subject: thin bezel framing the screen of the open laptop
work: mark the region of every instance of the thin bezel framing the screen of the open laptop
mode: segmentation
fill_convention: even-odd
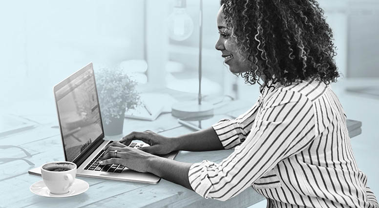
[[[63,139],[63,131],[62,131],[62,124],[61,124],[61,117],[59,114],[59,107],[58,107],[58,100],[57,100],[57,91],[61,89],[63,86],[67,85],[68,83],[72,82],[75,78],[79,77],[80,75],[84,74],[84,72],[91,70],[93,74],[93,80],[95,84],[95,91],[96,91],[96,98],[97,98],[97,103],[99,104],[99,114],[100,114],[100,124],[101,124],[101,131],[102,133],[82,152],[80,153],[75,159],[72,161],[75,163],[77,166],[80,166],[84,160],[89,156],[90,153],[92,153],[98,146],[102,144],[104,141],[104,128],[103,128],[103,120],[101,117],[101,110],[100,110],[100,103],[99,103],[99,95],[97,93],[97,86],[96,86],[96,79],[95,79],[95,73],[93,70],[93,64],[92,62],[88,63],[86,66],[84,66],[82,69],[78,70],[77,72],[73,73],[66,79],[64,79],[62,82],[56,84],[54,86],[54,98],[55,98],[55,106],[57,108],[57,115],[58,115],[58,122],[59,122],[59,130],[61,132],[61,140],[62,140],[62,145],[63,145],[63,152],[64,152],[64,160],[67,160],[67,154],[66,154],[66,149],[64,145],[64,139]],[[91,151],[92,150],[92,151]]]

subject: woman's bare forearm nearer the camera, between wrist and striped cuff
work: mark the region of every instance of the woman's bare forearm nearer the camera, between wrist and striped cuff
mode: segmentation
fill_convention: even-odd
[[[193,190],[188,179],[191,165],[190,163],[153,156],[148,160],[148,172]]]

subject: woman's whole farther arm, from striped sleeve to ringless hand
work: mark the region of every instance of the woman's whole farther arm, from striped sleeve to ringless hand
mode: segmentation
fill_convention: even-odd
[[[175,150],[211,151],[230,149],[239,145],[250,133],[259,102],[234,120],[223,120],[204,130],[178,137],[165,137],[152,131],[131,132],[120,140],[128,146],[133,140],[141,140],[149,147],[140,148],[153,154],[167,154]]]

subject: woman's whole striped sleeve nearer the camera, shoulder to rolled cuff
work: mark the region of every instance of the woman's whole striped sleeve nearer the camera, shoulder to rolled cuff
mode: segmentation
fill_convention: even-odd
[[[314,140],[313,108],[312,101],[298,92],[276,92],[273,99],[262,104],[246,141],[228,158],[218,164],[203,161],[190,167],[191,187],[204,198],[221,201],[250,187],[282,159],[300,152]],[[238,127],[232,131],[247,133]]]

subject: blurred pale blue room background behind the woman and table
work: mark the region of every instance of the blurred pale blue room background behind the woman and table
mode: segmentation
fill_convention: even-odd
[[[175,0],[0,1],[0,114],[54,114],[53,86],[88,62],[95,74],[102,67],[125,69],[140,91],[169,88],[196,98],[199,2],[187,0],[178,8]],[[363,123],[352,145],[378,194],[379,1],[319,2],[343,74],[332,87],[348,118]],[[204,0],[203,95],[254,102],[258,85],[230,73],[214,48],[218,10],[219,0]],[[168,31],[175,24],[186,27]]]

